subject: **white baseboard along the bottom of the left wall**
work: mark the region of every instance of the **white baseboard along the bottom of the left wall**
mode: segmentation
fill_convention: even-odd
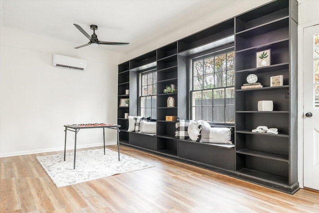
[[[116,141],[105,143],[106,146],[115,145],[115,144],[117,144]],[[76,148],[81,149],[81,148],[90,148],[90,147],[99,147],[99,146],[103,146],[103,143],[78,145]],[[74,146],[67,146],[66,150],[74,150]],[[12,156],[18,156],[18,155],[37,154],[37,153],[44,153],[44,152],[56,152],[56,151],[64,151],[64,147],[28,150],[28,151],[21,151],[21,152],[0,153],[0,158],[12,157]]]

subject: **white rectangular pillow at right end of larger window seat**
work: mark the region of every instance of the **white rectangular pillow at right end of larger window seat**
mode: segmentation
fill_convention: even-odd
[[[210,128],[202,127],[201,139],[202,143],[215,144],[232,144],[230,128]]]

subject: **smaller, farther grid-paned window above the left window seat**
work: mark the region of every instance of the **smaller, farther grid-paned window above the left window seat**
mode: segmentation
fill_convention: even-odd
[[[140,115],[156,119],[156,70],[140,74]]]

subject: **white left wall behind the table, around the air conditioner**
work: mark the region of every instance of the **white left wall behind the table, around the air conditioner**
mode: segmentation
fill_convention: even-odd
[[[117,123],[122,53],[1,27],[1,157],[64,149],[64,124]],[[52,66],[52,54],[87,60],[85,71]],[[71,132],[67,146],[74,147]],[[107,143],[116,132],[106,131]],[[81,130],[78,147],[103,145],[103,131]]]

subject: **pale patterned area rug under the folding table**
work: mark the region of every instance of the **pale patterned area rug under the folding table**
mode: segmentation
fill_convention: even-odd
[[[73,152],[63,158],[63,153],[36,157],[57,188],[154,167],[123,154],[119,161],[118,152],[110,149],[105,149],[105,155],[103,149],[77,151],[75,169]]]

